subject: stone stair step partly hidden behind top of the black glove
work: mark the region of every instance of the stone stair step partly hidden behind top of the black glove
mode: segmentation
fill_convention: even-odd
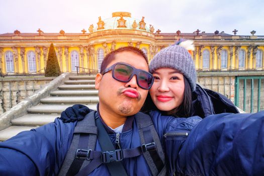
[[[85,105],[85,104],[82,104]],[[60,114],[62,111],[64,111],[66,108],[73,106],[73,104],[69,105],[38,105],[29,108],[27,111],[29,113],[34,113],[34,114]],[[85,105],[86,107],[92,109],[92,110],[97,110],[97,104],[92,104],[92,105]]]

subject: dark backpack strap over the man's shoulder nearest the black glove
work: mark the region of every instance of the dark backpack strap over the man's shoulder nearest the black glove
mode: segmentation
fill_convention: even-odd
[[[91,162],[91,160],[87,160],[82,156],[88,151],[95,150],[97,141],[95,115],[96,112],[92,111],[82,121],[77,122],[59,175],[75,175],[81,169],[82,165]],[[76,156],[77,154],[78,156]]]

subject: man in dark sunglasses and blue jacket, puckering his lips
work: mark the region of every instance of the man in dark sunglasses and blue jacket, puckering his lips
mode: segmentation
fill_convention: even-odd
[[[147,117],[138,112],[152,83],[153,77],[148,72],[148,61],[141,50],[135,47],[124,47],[109,53],[102,63],[101,73],[96,76],[99,105],[98,111],[93,114],[93,119],[96,119],[94,121],[98,128],[100,124],[103,124],[114,145],[114,151],[105,152],[107,150],[103,149],[104,141],[100,141],[99,136],[96,138],[95,146],[90,148],[84,146],[89,150],[78,148],[85,141],[81,140],[81,134],[78,136],[79,140],[74,139],[76,131],[81,129],[78,127],[76,130],[78,124],[63,123],[60,119],[56,119],[54,123],[22,132],[2,142],[0,144],[0,175],[74,175],[76,173],[110,175],[115,170],[119,172],[120,167],[124,167],[124,174],[128,175],[159,173],[165,175],[165,158],[161,148],[165,145],[164,133],[174,131],[178,127],[186,132],[191,131],[191,128],[201,119],[199,117],[189,119],[162,117],[157,112],[153,112],[151,114],[153,122],[150,121],[154,126],[144,124],[148,122],[144,120]],[[91,117],[91,113],[88,116]],[[82,130],[91,130],[90,125],[84,123]],[[97,131],[94,133],[97,134]],[[173,149],[175,156],[181,142],[175,144]],[[73,150],[71,148],[74,148],[75,143],[79,144],[76,144],[77,148]],[[91,145],[90,143],[88,142],[87,145]],[[90,156],[90,153],[84,158],[78,155],[91,150],[93,150],[91,152],[93,156]],[[117,159],[118,156],[113,155],[113,152],[121,152],[121,158]],[[73,153],[72,156],[69,153]],[[86,163],[87,160],[91,161],[90,165]],[[114,161],[108,162],[108,160]],[[121,165],[113,164],[115,162]],[[75,163],[79,166],[78,169]],[[174,171],[169,172],[173,174]]]

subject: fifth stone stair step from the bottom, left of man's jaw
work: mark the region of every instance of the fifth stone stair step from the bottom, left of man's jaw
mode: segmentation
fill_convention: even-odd
[[[51,96],[98,96],[98,90],[59,90],[50,93]]]

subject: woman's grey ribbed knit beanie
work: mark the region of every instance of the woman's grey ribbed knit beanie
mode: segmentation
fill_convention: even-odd
[[[159,51],[149,64],[149,72],[159,68],[173,68],[180,71],[189,81],[192,92],[196,89],[196,69],[191,54],[177,44]]]

